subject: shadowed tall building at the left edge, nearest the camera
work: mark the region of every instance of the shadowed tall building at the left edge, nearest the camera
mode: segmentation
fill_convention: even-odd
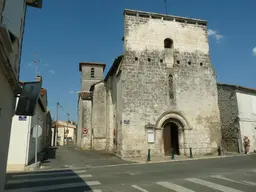
[[[4,188],[6,162],[19,90],[19,65],[26,7],[41,7],[42,0],[0,0],[0,191]]]

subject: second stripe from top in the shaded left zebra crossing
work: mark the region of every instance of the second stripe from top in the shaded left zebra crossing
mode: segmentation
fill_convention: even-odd
[[[56,180],[63,180],[63,179],[79,179],[79,178],[87,178],[87,177],[92,177],[92,175],[71,175],[71,176],[48,177],[48,178],[16,179],[16,180],[7,181],[7,184],[30,183],[30,182],[38,182],[38,181],[56,181]]]

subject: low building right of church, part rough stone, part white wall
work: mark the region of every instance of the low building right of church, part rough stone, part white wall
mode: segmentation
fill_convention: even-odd
[[[244,136],[256,151],[256,90],[218,83],[222,143],[225,151],[244,152]]]

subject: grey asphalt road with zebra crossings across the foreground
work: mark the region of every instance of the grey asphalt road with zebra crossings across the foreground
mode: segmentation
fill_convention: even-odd
[[[7,176],[13,192],[255,192],[256,155],[156,164],[100,165]]]

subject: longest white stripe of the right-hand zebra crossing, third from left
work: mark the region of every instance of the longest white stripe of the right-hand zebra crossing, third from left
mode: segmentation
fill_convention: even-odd
[[[237,190],[237,189],[233,189],[233,188],[230,188],[230,187],[226,187],[226,186],[219,185],[219,184],[216,184],[216,183],[212,183],[212,182],[209,182],[209,181],[205,181],[205,180],[202,180],[202,179],[188,178],[188,179],[185,179],[185,180],[190,181],[192,183],[199,184],[199,185],[203,185],[203,186],[206,186],[206,187],[209,187],[209,188],[212,188],[212,189],[216,189],[216,190],[219,190],[219,191],[222,191],[222,192],[243,192],[243,191],[240,191],[240,190]]]

